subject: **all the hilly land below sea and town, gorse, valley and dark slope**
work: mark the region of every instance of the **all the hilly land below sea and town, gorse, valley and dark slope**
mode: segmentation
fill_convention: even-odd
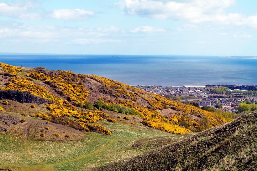
[[[0,170],[256,165],[256,112],[222,125],[221,115],[108,78],[4,63],[0,99]]]

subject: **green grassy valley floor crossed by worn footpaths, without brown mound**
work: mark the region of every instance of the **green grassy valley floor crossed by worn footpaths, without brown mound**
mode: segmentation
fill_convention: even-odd
[[[0,168],[21,170],[83,170],[120,159],[142,154],[155,146],[134,147],[137,141],[148,144],[161,137],[177,137],[143,125],[97,122],[108,128],[111,135],[84,133],[83,141],[22,140],[9,134],[0,134]],[[158,146],[158,145],[157,145]],[[156,147],[157,147],[156,146]],[[25,148],[26,147],[26,148]],[[3,157],[5,156],[5,157]],[[72,169],[71,169],[72,168]],[[17,169],[17,168],[16,168]]]

